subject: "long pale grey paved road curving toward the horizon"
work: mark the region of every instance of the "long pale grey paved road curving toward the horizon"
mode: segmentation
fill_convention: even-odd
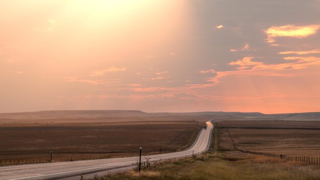
[[[202,129],[195,143],[187,150],[165,154],[149,155],[151,162],[191,156],[207,151],[213,124],[207,122],[207,129]],[[138,156],[73,162],[39,163],[0,167],[0,180],[8,179],[64,179],[106,170],[130,167],[139,160]]]

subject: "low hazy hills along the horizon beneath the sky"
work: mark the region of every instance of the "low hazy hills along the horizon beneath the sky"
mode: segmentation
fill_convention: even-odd
[[[145,113],[140,110],[48,110],[26,113],[0,113],[0,120],[45,120],[45,119],[101,119],[109,117],[169,117],[169,116],[205,116],[208,118],[241,118],[264,120],[320,120],[320,113],[291,113],[265,115],[262,113],[240,112],[195,112],[195,113]]]

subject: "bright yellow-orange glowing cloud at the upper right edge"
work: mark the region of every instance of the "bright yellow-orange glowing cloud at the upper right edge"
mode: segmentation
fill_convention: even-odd
[[[267,42],[275,42],[275,37],[307,37],[315,34],[320,28],[320,25],[309,25],[309,26],[272,26],[271,28],[265,30],[267,34]]]

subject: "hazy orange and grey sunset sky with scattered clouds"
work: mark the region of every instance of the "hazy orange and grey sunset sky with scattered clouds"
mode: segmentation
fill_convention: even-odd
[[[320,111],[319,0],[2,0],[0,113]]]

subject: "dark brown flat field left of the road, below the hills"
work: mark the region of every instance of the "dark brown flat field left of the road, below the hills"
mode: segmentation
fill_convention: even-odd
[[[1,160],[101,158],[185,149],[195,140],[197,121],[77,123],[0,127]],[[20,161],[19,161],[20,162]]]

